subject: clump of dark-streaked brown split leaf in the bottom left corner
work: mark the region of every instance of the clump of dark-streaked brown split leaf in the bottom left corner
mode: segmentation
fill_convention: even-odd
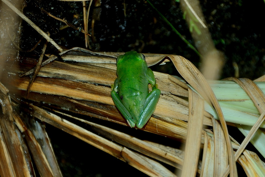
[[[0,171],[1,176],[35,176],[29,150],[42,176],[62,176],[53,150],[49,148],[49,138],[44,134],[43,141],[37,141],[36,136],[32,134],[33,129],[27,128],[21,117],[13,110],[8,90],[2,84],[0,88],[0,103],[4,110],[0,121],[1,143],[6,143],[1,147],[1,152],[4,153],[0,158],[0,166],[3,169]],[[37,134],[40,135],[41,132],[38,130]]]

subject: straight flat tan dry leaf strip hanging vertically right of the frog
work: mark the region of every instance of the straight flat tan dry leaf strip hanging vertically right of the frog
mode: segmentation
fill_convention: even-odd
[[[201,147],[203,112],[204,101],[198,94],[189,89],[188,134],[181,176],[196,176]]]

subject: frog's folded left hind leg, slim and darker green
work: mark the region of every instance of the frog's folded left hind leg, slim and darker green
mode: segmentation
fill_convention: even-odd
[[[118,108],[118,110],[120,111],[120,113],[123,115],[123,117],[125,117],[125,119],[127,120],[128,124],[130,125],[130,127],[135,127],[135,124],[137,123],[137,120],[135,120],[135,122],[132,120],[132,115],[130,114],[130,112],[125,108],[125,106],[123,106],[119,95],[112,90],[110,93],[113,102],[115,104],[115,106]]]

